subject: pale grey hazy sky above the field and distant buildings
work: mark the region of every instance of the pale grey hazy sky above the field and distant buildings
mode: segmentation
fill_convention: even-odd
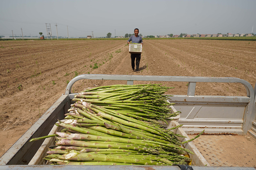
[[[46,36],[45,23],[66,37],[251,33],[256,0],[0,0],[0,35]]]

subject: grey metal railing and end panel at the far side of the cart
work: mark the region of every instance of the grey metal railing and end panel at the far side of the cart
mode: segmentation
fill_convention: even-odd
[[[183,129],[186,132],[191,131],[192,129],[194,133],[198,133],[204,128],[205,132],[211,134],[233,133],[244,135],[252,128],[252,120],[250,120],[250,118],[252,115],[254,91],[250,83],[240,78],[84,74],[75,77],[68,83],[65,94],[71,94],[72,96],[72,86],[76,81],[82,79],[126,80],[127,85],[133,85],[134,81],[188,82],[187,95],[173,95],[173,97],[170,98],[172,102],[176,103],[175,108],[176,106],[178,107],[176,110],[189,112],[189,115],[183,114],[185,117],[180,117],[181,123],[184,124]],[[197,82],[240,83],[244,85],[247,97],[195,95]],[[210,112],[208,114],[200,113],[200,110],[209,109],[209,106],[214,107],[214,105],[220,106],[219,110],[217,110],[218,112],[227,112],[229,109],[230,111],[228,114],[230,116],[225,114],[225,117],[221,118],[220,115],[224,113],[219,113],[219,115],[216,115],[217,117],[210,114]],[[191,108],[188,106],[191,106]],[[198,115],[204,116],[200,118]],[[233,117],[232,115],[236,116]]]

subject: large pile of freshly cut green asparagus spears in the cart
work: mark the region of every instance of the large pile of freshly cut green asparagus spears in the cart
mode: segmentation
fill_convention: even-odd
[[[55,136],[56,144],[44,159],[58,165],[187,164],[191,160],[186,155],[193,153],[181,144],[188,141],[180,142],[178,137],[184,136],[172,132],[182,125],[165,129],[157,121],[167,123],[167,118],[180,114],[170,114],[167,107],[163,94],[170,88],[111,85],[80,92],[66,120],[56,123],[65,129],[46,136]],[[30,141],[41,138],[45,137]]]

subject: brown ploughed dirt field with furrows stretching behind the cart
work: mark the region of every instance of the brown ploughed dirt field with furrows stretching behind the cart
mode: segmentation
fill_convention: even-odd
[[[132,71],[125,40],[0,41],[0,156],[65,93],[67,83],[80,74],[236,77],[252,87],[255,85],[255,41],[143,42],[140,72],[136,73]],[[74,85],[73,92],[121,83],[81,80]],[[167,86],[175,87],[170,94],[187,94],[187,82]],[[239,84],[198,83],[196,95],[246,96],[246,91]],[[254,139],[249,142],[243,143],[248,150],[256,143]]]

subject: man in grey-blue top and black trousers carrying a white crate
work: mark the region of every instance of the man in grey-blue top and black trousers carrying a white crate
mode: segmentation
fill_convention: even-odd
[[[143,46],[142,38],[138,34],[139,34],[139,29],[135,28],[134,29],[134,35],[132,35],[129,38],[129,40],[127,41],[128,45],[130,45],[130,41],[132,41],[132,43],[142,44],[142,46]],[[135,58],[136,58],[136,70],[134,69]],[[131,54],[131,60],[132,60],[132,70],[136,71],[138,73],[139,72],[139,65],[140,65],[140,54]]]

